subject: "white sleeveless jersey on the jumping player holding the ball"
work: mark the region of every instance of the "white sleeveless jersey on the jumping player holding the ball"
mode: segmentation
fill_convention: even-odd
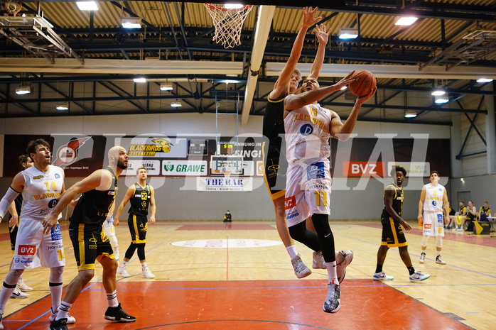
[[[319,104],[292,110],[284,119],[289,165],[329,158],[331,111]]]

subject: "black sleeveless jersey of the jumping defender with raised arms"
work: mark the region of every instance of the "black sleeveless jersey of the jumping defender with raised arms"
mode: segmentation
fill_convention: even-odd
[[[269,145],[274,148],[281,148],[281,143],[284,138],[284,99],[289,94],[284,95],[279,99],[270,99],[265,108],[264,123],[262,134],[269,139]]]

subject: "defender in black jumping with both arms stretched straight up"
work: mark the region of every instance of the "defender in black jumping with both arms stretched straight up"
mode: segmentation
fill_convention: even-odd
[[[301,22],[300,31],[291,49],[291,55],[289,56],[288,62],[284,67],[279,79],[277,79],[276,84],[274,84],[274,89],[269,94],[265,113],[264,113],[264,124],[263,124],[263,134],[269,139],[269,145],[264,143],[264,164],[265,164],[265,182],[267,188],[269,189],[269,194],[274,203],[274,211],[276,213],[276,228],[279,233],[281,241],[286,247],[286,251],[289,253],[291,258],[291,264],[293,265],[294,273],[296,277],[302,278],[310,275],[311,270],[303,263],[300,255],[296,252],[296,247],[294,241],[289,235],[288,225],[286,223],[286,216],[284,214],[284,192],[286,189],[286,151],[285,146],[282,144],[284,141],[284,98],[289,94],[296,92],[298,89],[298,83],[301,81],[301,74],[296,69],[299,57],[301,55],[301,49],[303,48],[303,41],[305,38],[306,31],[310,26],[317,23],[321,17],[314,17],[316,9],[311,9],[311,7],[305,7],[303,9],[303,21]],[[324,55],[325,55],[325,45],[328,42],[329,31],[326,31],[325,26],[316,26],[316,35],[319,41],[317,55],[313,61],[311,68],[311,73],[308,77],[317,78],[320,74],[320,69],[322,68]],[[325,263],[323,260],[322,253],[320,252],[320,247],[313,246],[315,248],[313,251],[313,268],[325,269]],[[346,266],[350,264],[353,254],[351,251],[340,251],[336,252],[336,258],[339,258],[338,273],[340,274],[340,280],[343,280],[346,273]]]

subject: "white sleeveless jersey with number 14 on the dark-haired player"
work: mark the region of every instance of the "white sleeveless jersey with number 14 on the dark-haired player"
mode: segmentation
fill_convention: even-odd
[[[21,173],[25,182],[21,216],[43,221],[57,204],[64,185],[64,172],[58,166],[48,165],[46,172],[32,166]]]

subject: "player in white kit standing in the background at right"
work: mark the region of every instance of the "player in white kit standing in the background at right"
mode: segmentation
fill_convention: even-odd
[[[444,224],[449,223],[450,204],[446,188],[438,184],[439,173],[431,172],[429,177],[431,183],[422,188],[419,201],[419,222],[423,224],[422,253],[419,263],[424,263],[426,258],[427,240],[430,236],[436,236],[436,263],[446,265],[441,259],[441,249],[443,248]],[[443,216],[443,208],[446,212]],[[424,216],[422,216],[424,210]]]

